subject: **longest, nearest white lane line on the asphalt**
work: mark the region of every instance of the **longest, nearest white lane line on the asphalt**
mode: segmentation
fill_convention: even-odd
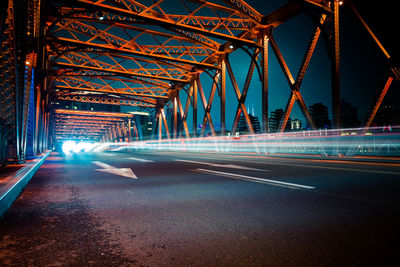
[[[194,169],[193,171],[202,172],[202,173],[208,173],[208,174],[214,174],[214,175],[224,176],[224,177],[229,177],[229,178],[234,178],[234,179],[240,179],[240,180],[253,181],[253,182],[265,183],[265,184],[270,184],[270,185],[283,186],[283,187],[288,187],[290,189],[298,189],[298,188],[301,188],[301,189],[315,189],[314,186],[309,186],[309,185],[287,183],[287,182],[281,182],[281,181],[277,181],[277,180],[271,180],[271,179],[265,179],[265,178],[259,178],[259,177],[253,177],[253,176],[235,174],[235,173],[229,173],[229,172],[220,172],[220,171],[200,169],[200,168]]]

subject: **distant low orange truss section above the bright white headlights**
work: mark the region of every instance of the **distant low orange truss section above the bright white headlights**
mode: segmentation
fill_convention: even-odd
[[[131,129],[137,131],[127,113],[56,109],[53,116],[55,142],[130,142]]]

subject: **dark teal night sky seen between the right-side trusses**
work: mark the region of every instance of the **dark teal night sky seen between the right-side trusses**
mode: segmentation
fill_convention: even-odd
[[[255,0],[248,1],[248,3],[260,13],[269,14],[285,4],[286,1]],[[387,6],[368,6],[366,1],[353,1],[352,3],[389,54],[392,57],[398,56],[395,54],[397,51],[395,51],[396,41],[392,37],[393,32],[389,29],[389,26],[393,24],[391,20],[395,17],[394,9]],[[275,39],[294,77],[297,75],[313,29],[314,24],[310,17],[301,14],[274,30]],[[377,91],[381,90],[387,79],[384,56],[346,3],[340,8],[340,30],[341,98],[358,107],[359,120],[365,121]],[[241,66],[247,66],[249,63],[244,62],[245,55],[239,51],[235,52],[235,55],[237,60],[243,61],[243,64],[233,64],[236,66],[237,72],[242,73],[243,81],[247,67],[242,68]],[[232,55],[232,58],[235,58],[235,55]],[[290,88],[271,49],[269,55],[269,110],[273,111],[285,107]],[[258,79],[258,77],[255,78]],[[250,110],[254,106],[255,115],[261,118],[260,83],[256,79],[252,80],[246,105],[250,107]],[[330,86],[330,62],[325,40],[321,35],[300,90],[308,106],[322,102],[328,106],[331,114]],[[393,82],[387,95],[392,102],[394,102],[395,96],[398,96],[398,89],[398,82]],[[294,106],[291,118],[301,119],[305,123],[297,104]],[[227,120],[229,119],[228,116]]]

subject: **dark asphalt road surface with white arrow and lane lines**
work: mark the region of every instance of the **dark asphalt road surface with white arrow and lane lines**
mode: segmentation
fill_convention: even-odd
[[[53,152],[0,220],[0,266],[400,266],[400,166]]]

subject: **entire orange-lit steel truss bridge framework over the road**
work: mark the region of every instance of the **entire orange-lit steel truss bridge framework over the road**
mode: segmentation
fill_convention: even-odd
[[[333,127],[338,129],[340,4],[336,0],[292,0],[270,14],[261,14],[257,6],[243,0],[3,0],[2,160],[22,163],[28,155],[68,138],[131,141],[133,115],[57,110],[53,103],[58,101],[141,107],[153,114],[154,139],[196,137],[199,123],[203,125],[200,135],[204,135],[206,125],[213,136],[226,130],[234,135],[241,116],[249,133],[254,133],[245,106],[253,76],[259,77],[254,80],[262,90],[261,125],[267,133],[271,56],[278,60],[290,92],[278,131],[284,131],[295,102],[308,125],[315,128],[301,84],[320,37],[328,44],[331,84],[327,87],[332,90]],[[389,62],[390,55],[355,7],[350,1],[346,5]],[[280,52],[274,29],[302,13],[313,19],[315,28],[295,75]],[[268,54],[269,47],[273,55]],[[235,62],[230,58],[237,49],[250,58],[243,85],[237,82],[232,69]],[[399,69],[388,66],[387,82],[371,108],[366,127],[393,80],[399,79]],[[205,90],[201,75],[210,79],[209,90]],[[226,91],[231,89],[236,99],[228,103],[234,102],[237,108],[232,128],[226,129]],[[219,131],[211,116],[217,102]],[[198,106],[204,117],[198,116]],[[170,122],[166,107],[173,110]]]

